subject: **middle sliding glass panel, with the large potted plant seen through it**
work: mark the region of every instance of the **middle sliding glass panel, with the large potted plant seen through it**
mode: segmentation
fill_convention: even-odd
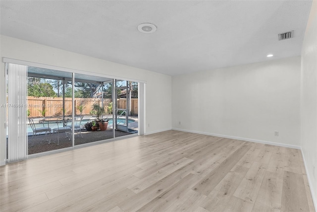
[[[112,79],[75,73],[75,145],[113,139]]]

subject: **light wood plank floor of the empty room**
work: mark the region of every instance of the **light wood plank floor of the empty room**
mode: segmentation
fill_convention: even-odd
[[[178,131],[0,167],[1,212],[314,211],[297,149]]]

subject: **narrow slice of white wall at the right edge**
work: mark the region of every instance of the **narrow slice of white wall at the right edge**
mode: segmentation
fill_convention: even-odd
[[[301,146],[317,209],[317,1],[313,1],[302,46]]]

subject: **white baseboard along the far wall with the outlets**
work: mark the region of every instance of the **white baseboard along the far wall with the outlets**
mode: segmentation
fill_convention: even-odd
[[[219,135],[219,134],[213,134],[213,133],[205,133],[205,132],[192,131],[192,130],[183,130],[183,129],[177,129],[177,128],[172,128],[172,130],[177,130],[177,131],[182,131],[182,132],[187,132],[187,133],[197,133],[197,134],[221,137],[221,138],[226,138],[226,139],[235,139],[235,140],[240,140],[240,141],[250,141],[250,142],[255,142],[255,143],[264,143],[264,144],[275,145],[275,146],[283,146],[283,147],[288,147],[288,148],[301,149],[301,146],[291,145],[291,144],[286,144],[286,143],[277,143],[277,142],[272,142],[272,141],[261,141],[261,140],[256,140],[256,139],[247,139],[247,138],[240,138],[240,137],[227,136],[227,135]]]

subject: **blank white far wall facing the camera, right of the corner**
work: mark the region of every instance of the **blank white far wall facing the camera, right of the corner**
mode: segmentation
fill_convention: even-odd
[[[299,148],[301,59],[268,60],[173,76],[172,128]]]

